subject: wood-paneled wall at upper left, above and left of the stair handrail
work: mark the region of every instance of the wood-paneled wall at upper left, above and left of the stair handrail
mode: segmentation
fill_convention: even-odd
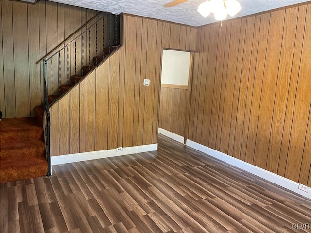
[[[35,116],[43,100],[42,65],[36,62],[97,12],[51,1],[0,4],[1,111],[6,118]]]

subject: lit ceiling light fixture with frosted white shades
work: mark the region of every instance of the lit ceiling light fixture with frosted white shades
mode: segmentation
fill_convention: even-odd
[[[241,10],[241,5],[236,0],[207,0],[198,7],[198,12],[207,17],[214,13],[216,20],[224,20],[227,15],[234,16]]]

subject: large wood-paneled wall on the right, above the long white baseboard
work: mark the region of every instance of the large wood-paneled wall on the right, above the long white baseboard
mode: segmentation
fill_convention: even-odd
[[[311,4],[197,38],[189,139],[311,186]]]

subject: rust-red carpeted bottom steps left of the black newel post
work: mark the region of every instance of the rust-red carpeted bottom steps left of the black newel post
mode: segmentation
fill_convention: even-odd
[[[43,127],[35,117],[0,121],[1,183],[47,174]]]

